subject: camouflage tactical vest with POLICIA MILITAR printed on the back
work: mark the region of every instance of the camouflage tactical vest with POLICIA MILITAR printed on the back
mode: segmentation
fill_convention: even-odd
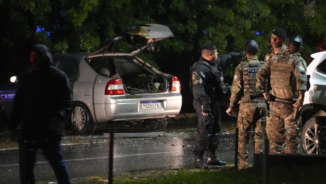
[[[251,60],[242,62],[244,70],[242,72],[244,80],[244,96],[261,94],[261,90],[256,88],[256,75],[265,62],[259,60]]]

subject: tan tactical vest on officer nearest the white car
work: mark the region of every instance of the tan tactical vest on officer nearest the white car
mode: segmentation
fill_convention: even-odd
[[[291,55],[276,54],[274,58],[270,61],[271,63],[271,87],[283,90],[296,90],[293,89],[294,86],[290,85],[291,73],[292,73],[292,63],[293,60],[298,56],[299,53],[294,53]]]

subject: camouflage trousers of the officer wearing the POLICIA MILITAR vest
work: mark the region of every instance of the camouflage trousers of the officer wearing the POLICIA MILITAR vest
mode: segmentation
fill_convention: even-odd
[[[249,136],[254,136],[255,153],[263,152],[263,129],[268,113],[265,100],[252,100],[242,103],[239,107],[237,127],[239,128],[238,170],[248,166]],[[253,131],[251,131],[251,127]]]

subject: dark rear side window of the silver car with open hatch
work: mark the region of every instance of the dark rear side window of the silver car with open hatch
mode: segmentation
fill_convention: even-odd
[[[65,72],[70,81],[76,80],[78,65],[75,60],[69,58],[59,58],[54,67]]]

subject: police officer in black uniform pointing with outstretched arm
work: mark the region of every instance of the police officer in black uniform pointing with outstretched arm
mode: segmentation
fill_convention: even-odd
[[[208,168],[207,165],[226,165],[217,158],[216,148],[220,140],[221,110],[219,99],[230,92],[231,86],[223,82],[223,66],[230,64],[243,53],[231,52],[217,57],[216,46],[206,43],[201,46],[201,57],[191,68],[190,87],[194,95],[194,109],[198,116],[197,135],[195,137],[195,167]],[[207,151],[207,161],[204,152]]]

